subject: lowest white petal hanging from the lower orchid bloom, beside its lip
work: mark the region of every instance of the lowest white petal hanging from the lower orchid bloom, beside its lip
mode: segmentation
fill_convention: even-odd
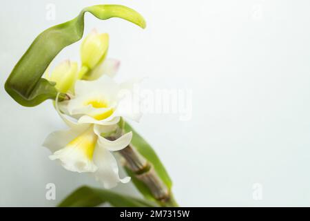
[[[94,172],[96,180],[101,182],[106,189],[116,186],[118,182],[130,182],[130,177],[124,177],[123,179],[119,177],[118,165],[114,156],[103,146],[96,146],[94,163],[98,167],[97,171]]]

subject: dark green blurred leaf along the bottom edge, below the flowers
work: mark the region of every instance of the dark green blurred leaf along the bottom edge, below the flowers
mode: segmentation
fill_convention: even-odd
[[[116,207],[153,207],[153,202],[132,198],[130,196],[121,195],[104,189],[96,189],[88,186],[82,186],[71,193],[63,202],[59,204],[61,207],[92,207],[99,206],[105,202],[109,202]]]

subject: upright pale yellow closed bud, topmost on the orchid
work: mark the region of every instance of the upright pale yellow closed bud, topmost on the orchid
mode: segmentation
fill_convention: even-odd
[[[90,32],[81,44],[82,66],[90,70],[101,64],[109,46],[109,35],[99,34],[96,30]]]

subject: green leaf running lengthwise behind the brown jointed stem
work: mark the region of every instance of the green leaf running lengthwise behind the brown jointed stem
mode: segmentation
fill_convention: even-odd
[[[156,155],[155,151],[153,150],[152,146],[150,146],[144,139],[134,131],[132,126],[128,124],[127,122],[124,123],[123,130],[125,133],[132,131],[133,136],[132,136],[132,145],[136,148],[136,150],[145,157],[149,162],[152,163],[154,166],[154,170],[158,174],[158,176],[161,178],[164,184],[168,187],[169,191],[171,190],[172,187],[172,180],[170,179],[165,166],[161,163],[161,160],[159,160],[158,156]],[[129,169],[125,168],[127,171],[128,175],[132,177],[132,182],[136,186],[136,188],[145,196],[147,199],[152,199],[154,200],[152,193],[149,191],[147,186],[141,182],[140,180],[136,179],[134,177],[134,174],[132,171]]]

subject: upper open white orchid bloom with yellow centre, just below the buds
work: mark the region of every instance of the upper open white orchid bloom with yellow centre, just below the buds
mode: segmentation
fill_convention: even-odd
[[[96,81],[76,81],[75,94],[61,102],[61,111],[74,117],[79,124],[117,124],[121,117],[138,122],[141,113],[133,88],[135,81],[117,84],[103,75]]]

